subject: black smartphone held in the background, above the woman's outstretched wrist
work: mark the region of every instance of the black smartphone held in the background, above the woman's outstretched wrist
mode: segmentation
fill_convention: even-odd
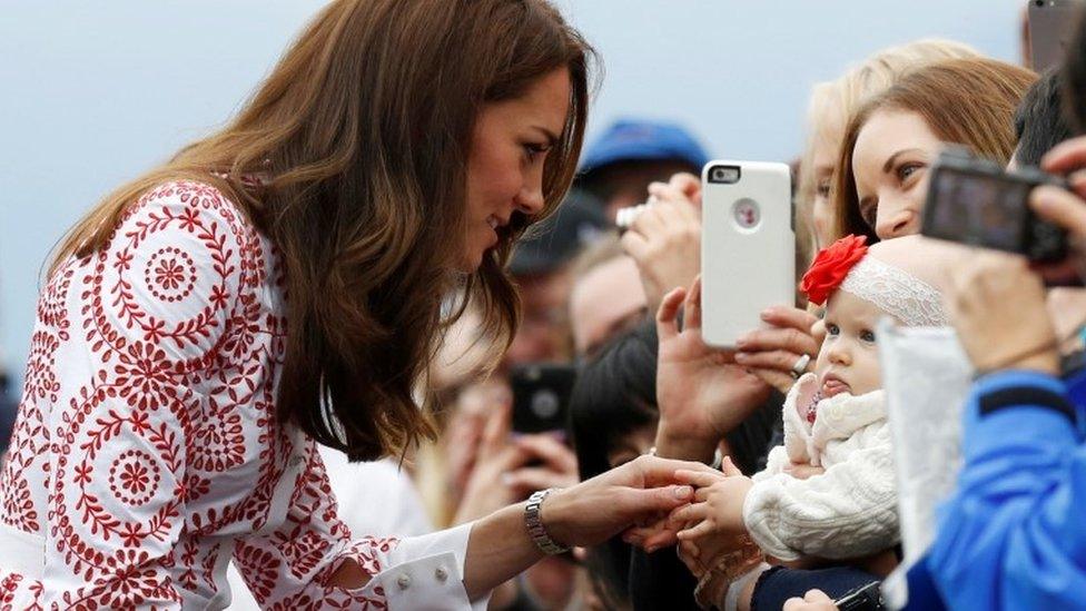
[[[564,432],[576,368],[564,363],[527,363],[510,371],[513,432]]]

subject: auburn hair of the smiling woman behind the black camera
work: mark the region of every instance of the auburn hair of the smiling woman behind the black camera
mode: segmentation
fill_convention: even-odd
[[[860,130],[878,110],[920,115],[940,140],[969,147],[976,155],[1007,165],[1014,154],[1015,110],[1037,80],[1031,70],[994,59],[954,59],[920,68],[863,104],[849,120],[833,177],[835,239],[849,234],[879,240],[860,216],[852,174],[852,149]]]

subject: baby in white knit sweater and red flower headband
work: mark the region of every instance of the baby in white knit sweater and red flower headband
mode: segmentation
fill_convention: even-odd
[[[826,304],[827,335],[814,373],[801,376],[784,401],[784,445],[770,452],[766,470],[752,479],[730,469],[680,472],[699,490],[697,502],[674,514],[689,526],[679,539],[702,555],[743,533],[782,561],[857,559],[898,542],[876,327],[883,316],[907,326],[947,325],[935,288],[944,282],[938,247],[922,238],[870,248],[863,242],[838,240],[803,277],[810,300]],[[801,470],[813,474],[793,475]],[[750,554],[742,558],[749,569]]]

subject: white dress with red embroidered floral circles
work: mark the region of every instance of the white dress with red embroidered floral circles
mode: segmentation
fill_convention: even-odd
[[[169,183],[53,274],[0,477],[0,609],[220,609],[231,558],[263,608],[485,608],[471,524],[352,539],[316,444],[277,422],[282,273],[218,190]],[[375,576],[325,585],[347,559]]]

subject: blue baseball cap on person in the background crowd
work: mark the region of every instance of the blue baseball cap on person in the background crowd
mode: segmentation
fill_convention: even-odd
[[[701,170],[709,155],[678,124],[622,119],[611,125],[585,149],[581,174],[620,161],[685,161]]]

